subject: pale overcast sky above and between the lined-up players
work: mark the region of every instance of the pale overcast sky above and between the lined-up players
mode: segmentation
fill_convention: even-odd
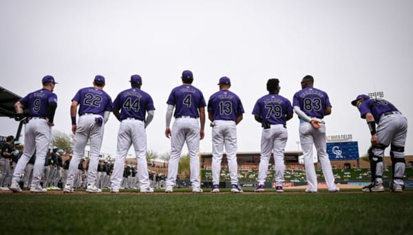
[[[221,76],[244,104],[237,126],[238,150],[260,150],[261,128],[251,112],[279,78],[280,95],[293,99],[306,74],[330,96],[327,135],[352,135],[366,153],[370,131],[350,105],[359,93],[383,91],[385,99],[412,120],[413,1],[0,1],[0,85],[25,96],[41,78],[59,85],[55,130],[70,133],[71,100],[96,74],[112,96],[142,76],[153,98],[147,148],[170,150],[165,137],[167,98],[183,70],[206,100]],[[17,122],[3,117],[0,135],[14,135]],[[119,122],[105,126],[101,151],[116,153]],[[286,150],[297,150],[297,115],[287,123]],[[412,131],[406,153],[413,154]],[[200,151],[211,152],[205,127]],[[301,149],[301,147],[299,148]],[[184,147],[183,153],[187,153]],[[388,150],[386,151],[388,154]]]

